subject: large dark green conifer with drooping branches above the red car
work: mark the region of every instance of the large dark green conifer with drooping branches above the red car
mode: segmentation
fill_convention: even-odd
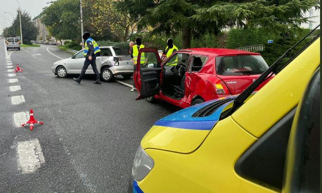
[[[182,48],[192,37],[218,35],[229,27],[263,26],[287,29],[289,24],[308,20],[303,11],[320,0],[124,0],[118,9],[139,18],[138,28],[152,26],[152,33],[182,33]]]

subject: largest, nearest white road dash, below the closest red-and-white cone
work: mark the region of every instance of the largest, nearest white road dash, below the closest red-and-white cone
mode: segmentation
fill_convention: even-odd
[[[18,142],[18,164],[22,174],[35,172],[45,163],[38,139]]]

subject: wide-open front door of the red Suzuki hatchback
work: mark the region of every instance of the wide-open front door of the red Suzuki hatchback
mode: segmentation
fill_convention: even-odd
[[[139,99],[160,92],[161,59],[157,51],[143,48],[139,50],[133,78]]]

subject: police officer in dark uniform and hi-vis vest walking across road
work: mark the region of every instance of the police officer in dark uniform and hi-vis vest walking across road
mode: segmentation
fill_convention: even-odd
[[[85,32],[83,35],[83,39],[85,40],[85,50],[84,50],[85,62],[79,77],[73,78],[74,81],[76,81],[78,84],[84,78],[85,71],[87,70],[89,65],[92,65],[92,69],[96,76],[96,81],[93,82],[93,84],[101,84],[101,81],[99,80],[99,73],[96,67],[96,54],[99,53],[101,50],[99,49],[95,40],[92,39],[90,36],[91,34],[89,32]]]

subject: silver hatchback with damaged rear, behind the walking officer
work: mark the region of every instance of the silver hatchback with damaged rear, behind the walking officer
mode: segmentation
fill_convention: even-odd
[[[103,81],[110,82],[115,75],[119,74],[124,78],[130,78],[133,75],[133,62],[129,49],[105,46],[100,47],[100,50],[96,57],[96,66]],[[84,61],[84,50],[80,50],[70,58],[55,62],[52,71],[59,78],[65,78],[67,74],[80,74]],[[91,65],[85,74],[94,74]]]

